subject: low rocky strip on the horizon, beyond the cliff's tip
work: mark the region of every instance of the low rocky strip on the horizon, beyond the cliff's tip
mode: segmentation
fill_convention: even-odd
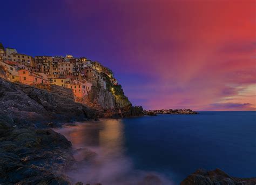
[[[150,116],[156,116],[157,114],[198,114],[195,111],[192,111],[191,109],[160,109],[160,110],[149,110],[149,111],[144,111],[145,115],[150,115]]]

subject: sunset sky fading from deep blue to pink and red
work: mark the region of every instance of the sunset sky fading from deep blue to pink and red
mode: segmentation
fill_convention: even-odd
[[[255,1],[3,1],[0,42],[111,68],[145,109],[256,110]]]

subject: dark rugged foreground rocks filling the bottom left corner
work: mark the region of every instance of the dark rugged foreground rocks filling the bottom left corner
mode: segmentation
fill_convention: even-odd
[[[74,159],[71,143],[48,129],[9,128],[0,135],[1,184],[70,184],[62,175]]]

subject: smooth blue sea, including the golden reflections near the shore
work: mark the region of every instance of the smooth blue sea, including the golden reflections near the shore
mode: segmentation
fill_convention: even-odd
[[[83,160],[70,170],[74,181],[136,184],[147,174],[178,184],[198,168],[220,168],[231,176],[256,176],[256,112],[200,112],[84,122],[64,134]],[[82,149],[81,149],[82,148]]]

